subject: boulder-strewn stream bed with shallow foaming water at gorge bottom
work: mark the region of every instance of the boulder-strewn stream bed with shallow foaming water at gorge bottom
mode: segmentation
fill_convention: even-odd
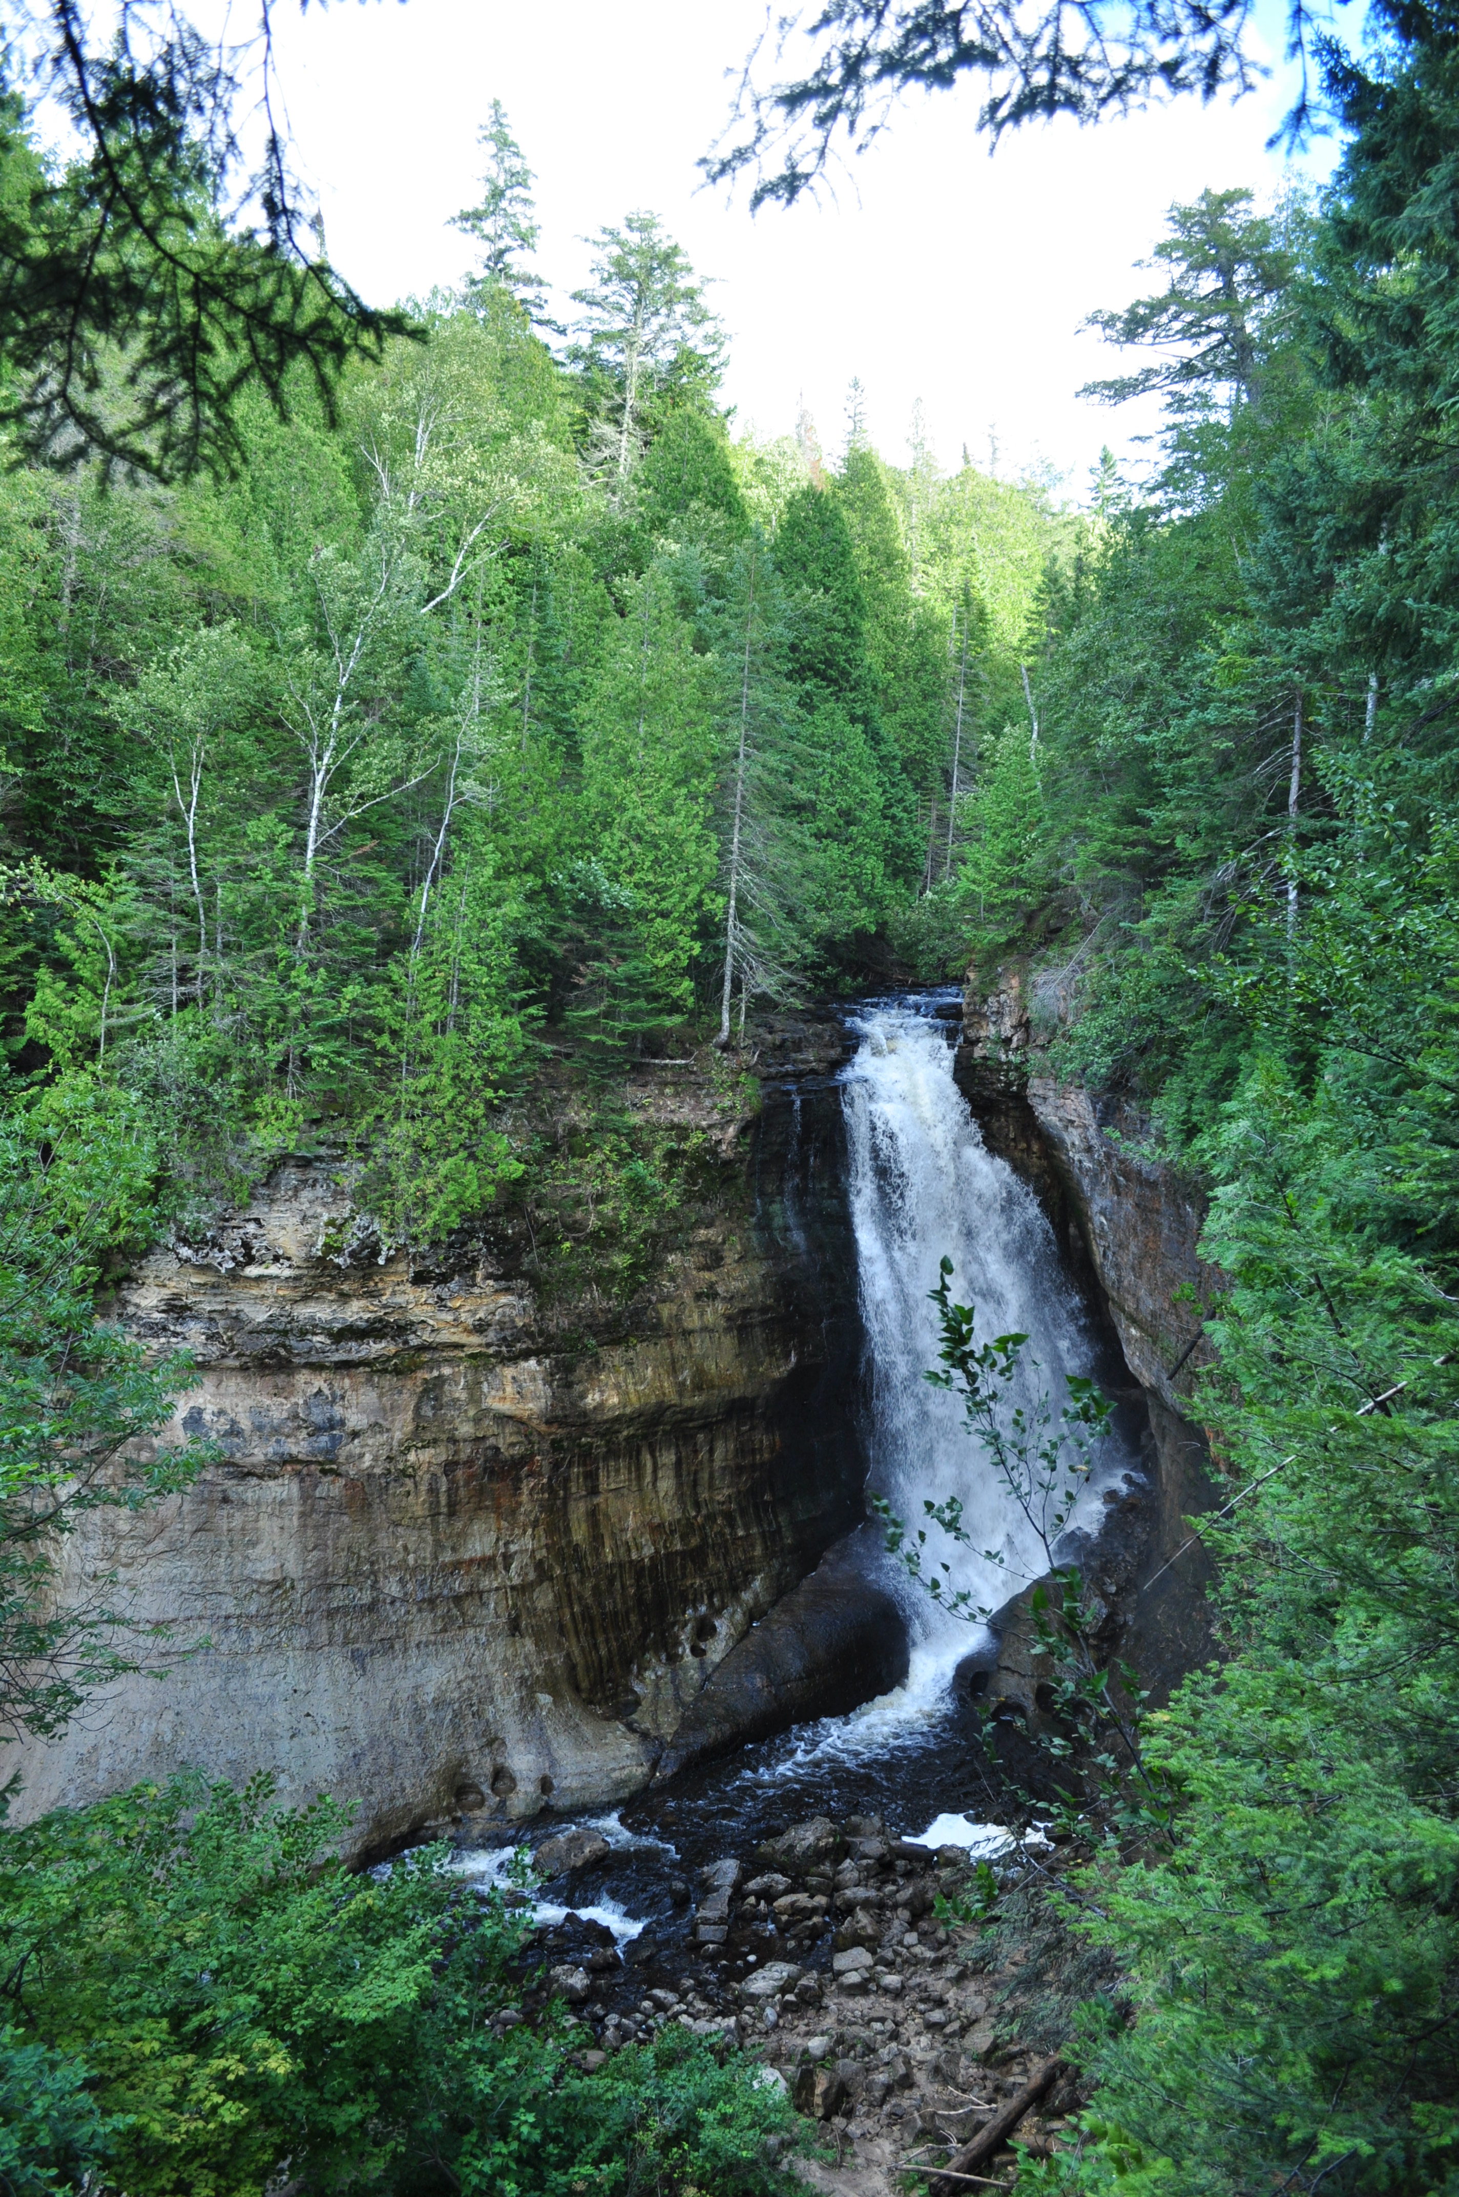
[[[686,1854],[703,1852],[703,1821],[686,1826],[686,1852],[617,1815],[552,1832],[534,1852],[521,2008],[503,2019],[565,1999],[591,2032],[587,2065],[668,2023],[749,2050],[820,2124],[802,2171],[826,2190],[879,2197],[910,2171],[945,2197],[1011,2186],[1009,2144],[1048,2153],[1081,2096],[1037,2015],[1024,2021],[1039,1979],[976,1925],[940,1918],[969,1892],[980,1845],[995,1850],[995,1826],[971,1850],[967,1819],[940,1826],[962,1843],[916,1843],[881,1815],[813,1815],[701,1861]],[[1026,1845],[1046,1852],[1039,1830]],[[505,1859],[461,1854],[461,1867],[501,1881]],[[1011,1837],[1002,1859],[1020,1859]],[[980,2175],[938,2184],[980,2131],[1000,2138]]]

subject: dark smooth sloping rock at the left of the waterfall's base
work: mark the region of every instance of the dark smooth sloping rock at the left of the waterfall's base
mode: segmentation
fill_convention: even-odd
[[[905,1676],[901,1610],[861,1575],[850,1542],[837,1542],[730,1650],[659,1758],[657,1782],[815,1716],[846,1716]]]

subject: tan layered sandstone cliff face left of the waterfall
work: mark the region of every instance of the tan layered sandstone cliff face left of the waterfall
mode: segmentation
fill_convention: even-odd
[[[222,1463],[73,1540],[66,1591],[114,1575],[171,1628],[169,1668],[24,1751],[24,1815],[180,1764],[272,1771],[290,1802],[358,1802],[382,1852],[648,1780],[705,1674],[859,1518],[864,1465],[855,1305],[815,1279],[850,1270],[826,1145],[782,1094],[754,1120],[692,1070],[631,1101],[703,1147],[633,1303],[545,1309],[490,1241],[382,1257],[323,1160],[130,1279],[121,1316],[191,1349],[178,1421]]]

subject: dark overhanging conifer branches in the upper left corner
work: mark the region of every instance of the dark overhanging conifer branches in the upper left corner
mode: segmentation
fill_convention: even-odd
[[[409,323],[367,308],[303,253],[286,143],[268,130],[266,185],[229,222],[242,152],[237,79],[182,18],[136,24],[103,53],[66,7],[42,53],[13,68],[46,81],[79,154],[40,154],[13,90],[0,110],[0,420],[46,464],[92,455],[160,479],[235,470],[242,413],[312,395],[332,411],[347,365]]]

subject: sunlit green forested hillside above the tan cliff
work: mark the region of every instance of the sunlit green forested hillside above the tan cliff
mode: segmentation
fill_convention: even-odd
[[[543,1048],[611,1077],[905,958],[1066,529],[888,468],[855,393],[837,459],[736,439],[653,215],[552,347],[483,136],[479,272],[338,426],[301,387],[231,481],[0,488],[13,1088],[103,1074],[204,1204],[330,1138],[411,1241],[521,1167]]]

